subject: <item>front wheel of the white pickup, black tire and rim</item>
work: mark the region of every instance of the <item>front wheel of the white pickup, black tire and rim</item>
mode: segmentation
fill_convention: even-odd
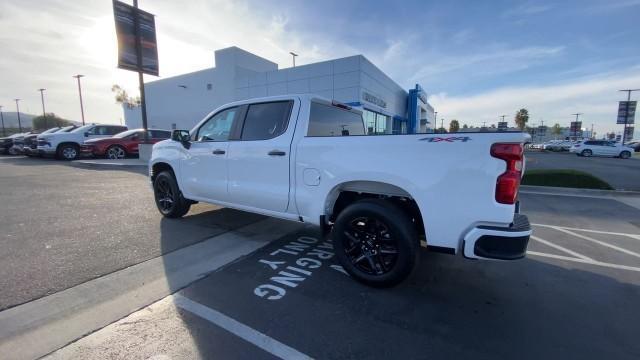
[[[180,218],[189,212],[191,202],[182,196],[173,173],[163,171],[153,181],[153,194],[158,211],[168,218]]]

